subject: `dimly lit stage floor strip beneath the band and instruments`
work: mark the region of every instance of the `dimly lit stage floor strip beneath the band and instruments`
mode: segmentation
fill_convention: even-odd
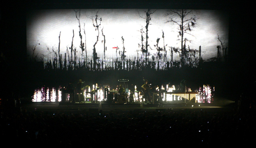
[[[145,104],[144,102],[128,104],[108,104],[102,102],[32,102],[22,104],[21,110],[26,111],[48,111],[48,112],[86,112],[100,110],[109,111],[232,111],[236,108],[234,102],[229,103],[193,103],[184,101],[170,101],[163,104]]]

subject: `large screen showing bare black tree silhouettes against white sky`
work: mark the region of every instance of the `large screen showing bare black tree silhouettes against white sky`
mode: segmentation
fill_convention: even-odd
[[[27,14],[28,60],[224,61],[228,13],[186,9],[47,9]]]

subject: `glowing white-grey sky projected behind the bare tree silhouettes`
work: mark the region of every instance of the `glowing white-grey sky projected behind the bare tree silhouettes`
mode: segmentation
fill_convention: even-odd
[[[152,9],[155,11],[156,9]],[[76,9],[76,11],[79,11]],[[93,58],[93,45],[96,42],[98,31],[93,26],[91,17],[95,16],[98,11],[98,18],[101,18],[99,26],[99,38],[96,44],[96,53],[100,59],[104,58],[104,37],[102,29],[106,37],[105,50],[107,60],[121,60],[119,51],[122,51],[123,45],[125,48],[126,59],[134,60],[137,55],[141,55],[141,33],[146,37],[146,17],[147,9],[81,9],[80,12],[80,27],[82,42],[85,42],[86,34],[86,50],[89,59]],[[78,12],[79,13],[79,12]],[[178,39],[178,27],[176,24],[166,23],[168,16],[165,16],[165,9],[157,9],[150,15],[150,25],[148,26],[148,44],[150,53],[149,61],[152,60],[152,55],[156,55],[157,50],[154,45],[156,40],[160,38],[158,46],[163,48],[164,44],[167,49],[167,60],[170,60],[170,47],[181,48]],[[208,60],[212,57],[217,57],[217,46],[220,45],[217,37],[223,40],[225,46],[228,46],[228,14],[218,10],[195,10],[193,15],[197,19],[197,26],[191,27],[191,35],[184,35],[191,42],[186,42],[186,46],[190,49],[202,49],[203,60]],[[141,17],[140,17],[141,16]],[[95,17],[93,17],[95,19]],[[95,20],[94,20],[95,23]],[[52,51],[58,51],[59,34],[60,35],[60,54],[62,56],[70,52],[70,47],[73,37],[73,48],[76,48],[77,60],[83,60],[82,50],[80,49],[80,36],[78,19],[74,9],[56,9],[56,10],[33,10],[27,15],[27,54],[28,59],[32,57],[33,49],[34,56],[37,55],[37,61],[49,60],[54,57]],[[85,34],[84,34],[85,31]],[[164,32],[164,43],[163,35]],[[193,36],[192,36],[193,35]],[[122,38],[124,44],[122,44]],[[117,54],[114,47],[119,47]],[[49,51],[47,50],[49,49]],[[83,52],[85,54],[85,51]],[[222,53],[221,53],[222,54]],[[198,56],[198,55],[197,55]],[[47,57],[47,58],[46,58]],[[136,57],[136,58],[135,58]],[[178,53],[174,53],[173,60],[180,60]]]

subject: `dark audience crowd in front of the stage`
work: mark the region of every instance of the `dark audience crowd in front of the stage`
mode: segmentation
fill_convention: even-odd
[[[2,145],[63,148],[247,146],[254,111],[1,112]]]

